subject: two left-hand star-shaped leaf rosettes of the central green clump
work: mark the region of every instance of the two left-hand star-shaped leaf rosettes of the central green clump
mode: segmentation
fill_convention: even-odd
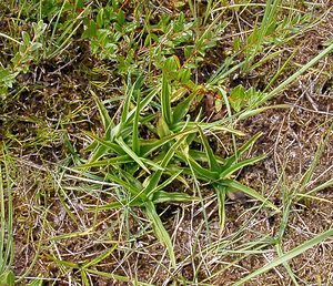
[[[189,134],[194,132],[194,129],[189,129],[179,132],[175,135],[169,135],[141,146],[139,123],[145,122],[144,118],[140,119],[140,112],[142,112],[142,110],[153,99],[157,91],[152,91],[141,101],[140,85],[141,79],[138,79],[133,85],[129,83],[122,116],[118,125],[112,123],[112,120],[110,119],[105,108],[95,96],[100,115],[104,125],[105,135],[104,139],[99,139],[95,135],[90,134],[90,136],[95,140],[92,144],[94,150],[91,154],[89,163],[80,165],[79,167],[87,168],[92,166],[113,166],[113,170],[111,168],[105,174],[105,180],[112,181],[124,187],[131,194],[130,201],[115,202],[98,208],[105,210],[122,207],[124,205],[130,207],[140,206],[151,219],[159,239],[167,245],[172,265],[175,266],[175,257],[173,254],[171,239],[163,227],[159,215],[157,214],[154,205],[161,202],[188,202],[195,200],[185,193],[167,193],[163,191],[163,188],[174,181],[180,173],[173,173],[167,181],[159,184],[163,171],[167,168],[170,160],[173,157],[175,150],[180,144],[182,144]],[[134,96],[134,99],[137,98],[138,105],[130,111],[130,103],[133,100],[132,96]],[[149,155],[151,155],[155,150],[165,144],[171,144],[174,141],[176,142],[173,143],[173,145],[167,152],[161,153],[160,157],[158,156],[153,160],[149,159]],[[129,145],[129,143],[131,144]],[[114,157],[109,160],[99,160],[103,155],[110,155],[112,153],[115,155]],[[163,159],[161,160],[161,157]],[[139,167],[142,170],[142,172],[148,174],[143,182],[140,182],[134,177],[134,174],[138,173]]]

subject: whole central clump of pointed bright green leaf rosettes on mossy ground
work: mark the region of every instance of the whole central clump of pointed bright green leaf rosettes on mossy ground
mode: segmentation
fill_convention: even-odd
[[[161,76],[161,88],[155,88],[143,99],[141,99],[142,78],[139,76],[132,84],[131,76],[129,76],[122,114],[118,124],[113,123],[105,106],[92,92],[102,119],[104,136],[99,137],[92,133],[87,133],[93,140],[87,149],[91,151],[90,159],[87,163],[75,167],[84,170],[83,175],[89,175],[87,168],[99,167],[104,180],[117,183],[129,192],[128,200],[98,206],[92,211],[124,206],[141,207],[151,221],[157,237],[167,245],[173,266],[175,266],[175,255],[172,243],[155,211],[155,205],[165,202],[198,201],[198,197],[184,192],[165,191],[174,180],[186,182],[186,178],[183,177],[185,175],[201,182],[208,182],[216,190],[222,228],[225,219],[224,201],[228,191],[244,192],[279,211],[258,192],[232,178],[236,171],[264,157],[258,156],[239,162],[240,156],[252,146],[260,135],[254,136],[226,160],[214,155],[204,131],[238,132],[215,123],[200,122],[200,114],[194,121],[190,120],[189,111],[200,89],[194,90],[188,98],[181,99],[175,106],[171,105],[173,92],[179,94],[178,90],[172,92],[171,85],[171,81],[179,80],[172,73],[174,64],[174,58],[167,61]],[[174,80],[174,78],[176,79]],[[174,85],[176,86],[176,83]],[[153,104],[153,100],[159,93],[160,106],[157,116],[145,110],[148,105]],[[135,105],[132,102],[135,102]],[[186,120],[184,121],[184,119]],[[151,137],[158,136],[159,139],[143,140],[139,125],[145,126],[151,133]],[[196,134],[200,135],[199,142],[204,152],[191,147]],[[104,159],[105,156],[107,159]],[[198,161],[206,162],[209,168],[202,167]]]

